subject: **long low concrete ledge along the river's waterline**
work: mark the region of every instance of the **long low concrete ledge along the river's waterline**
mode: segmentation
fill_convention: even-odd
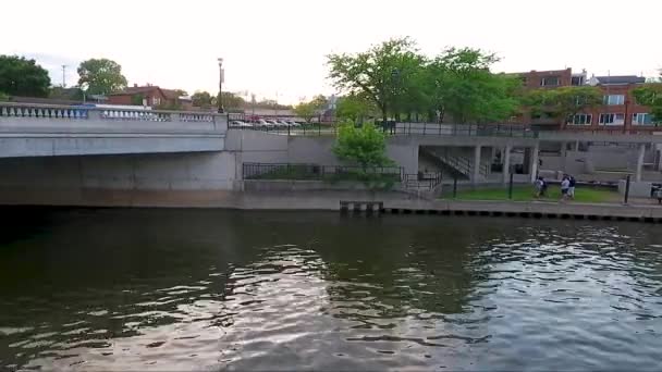
[[[0,204],[72,207],[228,208],[245,210],[339,211],[342,200],[383,202],[387,213],[491,215],[662,222],[662,207],[554,202],[405,199],[399,193],[225,190],[112,190],[100,188],[2,188]]]

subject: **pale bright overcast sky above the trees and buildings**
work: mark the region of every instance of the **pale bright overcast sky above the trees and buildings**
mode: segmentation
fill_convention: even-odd
[[[495,71],[586,69],[655,76],[660,0],[2,0],[0,53],[34,58],[53,84],[89,58],[130,85],[223,90],[295,103],[333,94],[326,55],[409,36],[421,52],[495,52]]]

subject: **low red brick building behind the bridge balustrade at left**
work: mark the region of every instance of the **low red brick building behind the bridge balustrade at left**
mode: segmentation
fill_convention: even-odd
[[[187,97],[180,97],[177,90],[162,89],[156,85],[139,87],[137,84],[108,97],[109,104],[149,106],[154,109],[179,108],[191,110],[193,102]]]

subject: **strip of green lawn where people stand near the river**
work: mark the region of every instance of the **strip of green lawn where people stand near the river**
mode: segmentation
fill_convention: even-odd
[[[445,198],[452,198],[452,195],[445,196]],[[458,190],[458,200],[507,200],[508,189],[507,187],[494,187],[494,188],[478,188],[474,190]],[[515,186],[513,187],[513,200],[514,201],[559,201],[561,200],[561,188],[559,186],[550,186],[545,197],[536,198],[534,186]],[[602,189],[602,188],[590,188],[590,187],[577,187],[575,189],[574,202],[613,202],[620,200],[617,191]]]

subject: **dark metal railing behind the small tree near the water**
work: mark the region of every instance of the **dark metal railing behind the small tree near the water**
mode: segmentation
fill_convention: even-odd
[[[401,166],[346,166],[309,163],[243,163],[244,179],[273,181],[363,181],[375,178],[402,182]]]

